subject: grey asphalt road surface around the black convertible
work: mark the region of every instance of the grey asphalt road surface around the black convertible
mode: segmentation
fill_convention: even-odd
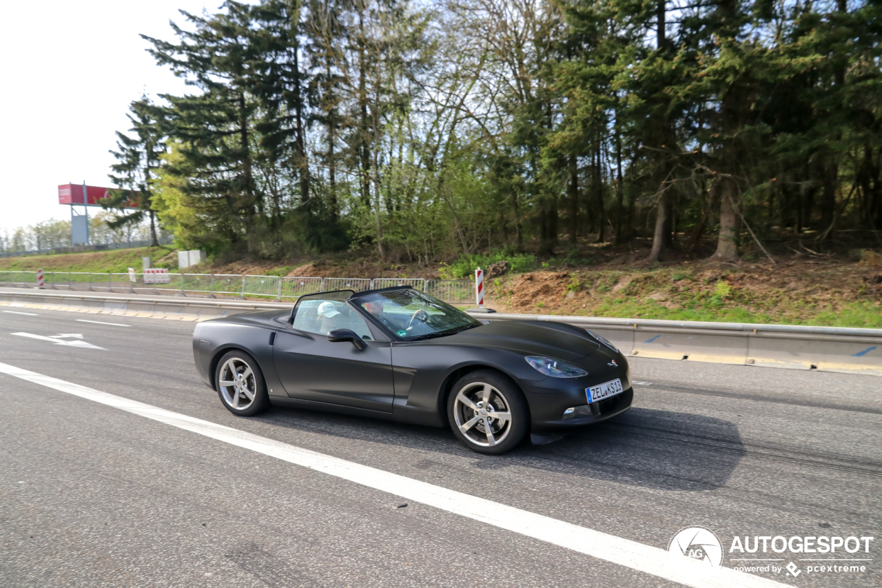
[[[648,546],[702,525],[729,568],[833,557],[729,553],[736,536],[871,536],[869,554],[834,556],[871,560],[863,572],[757,575],[882,584],[875,377],[632,358],[642,383],[622,417],[480,456],[447,430],[289,409],[236,418],[198,379],[190,322],[0,311],[9,366]],[[0,586],[678,585],[5,373],[0,405]]]

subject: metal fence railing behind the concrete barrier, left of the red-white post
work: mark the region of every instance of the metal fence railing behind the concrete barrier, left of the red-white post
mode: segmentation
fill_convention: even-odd
[[[166,274],[163,274],[166,275]],[[43,272],[43,287],[50,290],[81,290],[133,294],[166,294],[206,298],[267,298],[293,300],[329,290],[377,290],[411,286],[452,304],[475,300],[475,283],[467,280],[422,278],[320,278],[240,274],[172,274],[166,283],[145,283],[143,274],[104,272]],[[153,275],[155,279],[156,275]],[[0,286],[36,288],[34,271],[0,271]]]

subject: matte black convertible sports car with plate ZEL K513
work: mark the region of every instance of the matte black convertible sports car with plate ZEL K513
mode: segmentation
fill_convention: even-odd
[[[558,322],[476,320],[409,287],[299,298],[206,320],[193,333],[202,380],[234,414],[270,404],[451,426],[499,454],[527,433],[596,423],[631,407],[624,356]]]

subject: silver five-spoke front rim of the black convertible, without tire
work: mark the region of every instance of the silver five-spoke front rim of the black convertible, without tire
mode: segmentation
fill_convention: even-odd
[[[466,439],[481,447],[501,443],[512,430],[512,412],[505,396],[482,381],[467,384],[457,393],[453,417]]]

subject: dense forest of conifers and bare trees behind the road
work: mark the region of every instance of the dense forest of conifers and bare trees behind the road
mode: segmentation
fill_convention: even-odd
[[[192,92],[131,103],[109,207],[138,192],[141,209],[110,225],[230,260],[875,247],[880,15],[848,0],[182,12],[170,40],[145,38]]]

